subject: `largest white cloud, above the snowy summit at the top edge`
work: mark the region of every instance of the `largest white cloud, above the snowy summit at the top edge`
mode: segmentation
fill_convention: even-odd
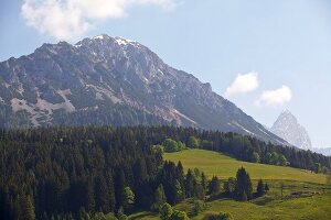
[[[81,36],[95,22],[120,19],[135,6],[172,10],[177,0],[23,0],[21,13],[28,25],[61,40]]]

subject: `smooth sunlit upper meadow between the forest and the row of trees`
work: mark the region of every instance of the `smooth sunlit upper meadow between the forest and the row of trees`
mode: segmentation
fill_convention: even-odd
[[[248,170],[252,179],[282,179],[324,184],[325,176],[314,174],[310,170],[297,169],[292,167],[282,167],[265,164],[255,164],[241,162],[224,154],[204,151],[185,150],[177,153],[166,153],[164,160],[178,162],[181,161],[184,168],[194,168],[203,170],[210,178],[216,175],[221,179],[234,177],[236,170],[244,166]]]

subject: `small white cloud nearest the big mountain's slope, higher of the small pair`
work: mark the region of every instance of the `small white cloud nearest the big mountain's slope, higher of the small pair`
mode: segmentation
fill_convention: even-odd
[[[253,91],[258,87],[257,73],[238,74],[235,80],[225,91],[225,97],[231,97],[239,94]]]

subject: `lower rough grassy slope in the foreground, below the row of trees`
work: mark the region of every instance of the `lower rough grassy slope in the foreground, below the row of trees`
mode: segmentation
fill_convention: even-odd
[[[222,198],[206,202],[207,208],[192,216],[193,200],[189,199],[174,208],[186,211],[190,219],[201,220],[210,213],[218,213],[220,211],[229,212],[235,220],[325,220],[331,219],[331,188],[320,184],[309,184],[299,182],[281,180],[285,185],[282,197],[280,196],[280,182],[268,180],[270,191],[257,199],[250,201],[235,201],[233,199]],[[256,183],[254,184],[254,188]],[[295,193],[306,191],[312,195],[295,196]],[[150,212],[140,212],[130,216],[130,219],[160,219],[158,215]]]

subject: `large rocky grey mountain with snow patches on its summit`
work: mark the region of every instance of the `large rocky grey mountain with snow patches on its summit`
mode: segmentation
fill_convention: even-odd
[[[0,63],[0,103],[1,128],[173,124],[287,144],[210,84],[138,42],[108,35],[43,44]]]

